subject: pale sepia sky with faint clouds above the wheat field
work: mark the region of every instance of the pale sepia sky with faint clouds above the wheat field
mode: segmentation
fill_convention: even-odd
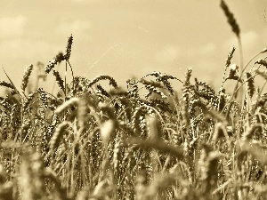
[[[246,63],[267,47],[267,1],[225,2],[239,23]],[[0,0],[0,64],[20,87],[25,68],[33,64],[34,76],[37,61],[46,66],[65,51],[72,34],[74,76],[109,75],[125,86],[128,78],[152,71],[183,79],[192,68],[193,77],[219,88],[232,47],[237,47],[233,62],[239,64],[237,38],[219,4],[219,0]],[[6,81],[2,68],[0,80]],[[64,76],[63,65],[59,70]],[[31,83],[35,84],[34,77]],[[39,86],[52,84],[50,77]]]

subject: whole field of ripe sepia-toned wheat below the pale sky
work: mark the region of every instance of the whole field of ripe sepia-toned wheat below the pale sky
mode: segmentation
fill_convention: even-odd
[[[221,7],[241,44],[238,23]],[[26,94],[33,65],[20,89],[8,76],[0,82],[8,90],[0,102],[1,200],[266,199],[267,61],[253,60],[267,49],[238,68],[233,48],[219,92],[191,81],[190,69],[184,80],[152,72],[123,89],[110,76],[74,76],[72,42],[45,68],[56,96]],[[69,83],[54,69],[61,62]],[[265,83],[256,86],[256,76]],[[170,80],[180,82],[181,98]],[[233,92],[223,88],[228,80]]]

